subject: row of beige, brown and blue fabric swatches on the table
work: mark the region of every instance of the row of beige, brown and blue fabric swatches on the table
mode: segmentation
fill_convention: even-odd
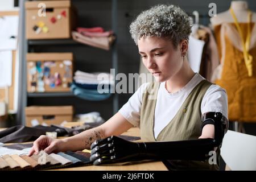
[[[90,166],[90,151],[67,151],[57,154],[47,154],[40,151],[38,155],[33,154],[5,154],[0,156],[0,170],[44,170],[67,167]]]

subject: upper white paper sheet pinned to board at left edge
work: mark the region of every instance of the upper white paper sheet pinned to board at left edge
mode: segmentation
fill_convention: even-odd
[[[18,18],[18,16],[0,17],[0,51],[17,48]]]

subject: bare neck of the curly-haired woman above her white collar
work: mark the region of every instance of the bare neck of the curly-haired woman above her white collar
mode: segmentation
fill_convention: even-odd
[[[183,88],[195,75],[188,61],[185,60],[182,68],[174,76],[166,81],[166,89],[169,93],[174,93]]]

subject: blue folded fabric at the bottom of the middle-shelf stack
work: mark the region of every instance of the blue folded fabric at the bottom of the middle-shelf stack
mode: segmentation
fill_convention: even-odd
[[[102,101],[106,100],[111,96],[110,90],[109,93],[98,93],[97,89],[83,89],[75,84],[71,85],[71,90],[76,97],[82,98],[88,101]]]

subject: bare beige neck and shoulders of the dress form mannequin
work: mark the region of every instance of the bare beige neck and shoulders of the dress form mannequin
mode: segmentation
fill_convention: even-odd
[[[247,14],[248,14],[248,3],[246,1],[232,1],[230,8],[234,10],[234,13],[237,16],[238,22],[247,22]],[[217,24],[226,23],[233,23],[234,19],[230,14],[230,11],[224,11],[217,16],[210,18],[210,22],[213,26]],[[256,22],[256,13],[253,13],[251,16],[251,22]]]

